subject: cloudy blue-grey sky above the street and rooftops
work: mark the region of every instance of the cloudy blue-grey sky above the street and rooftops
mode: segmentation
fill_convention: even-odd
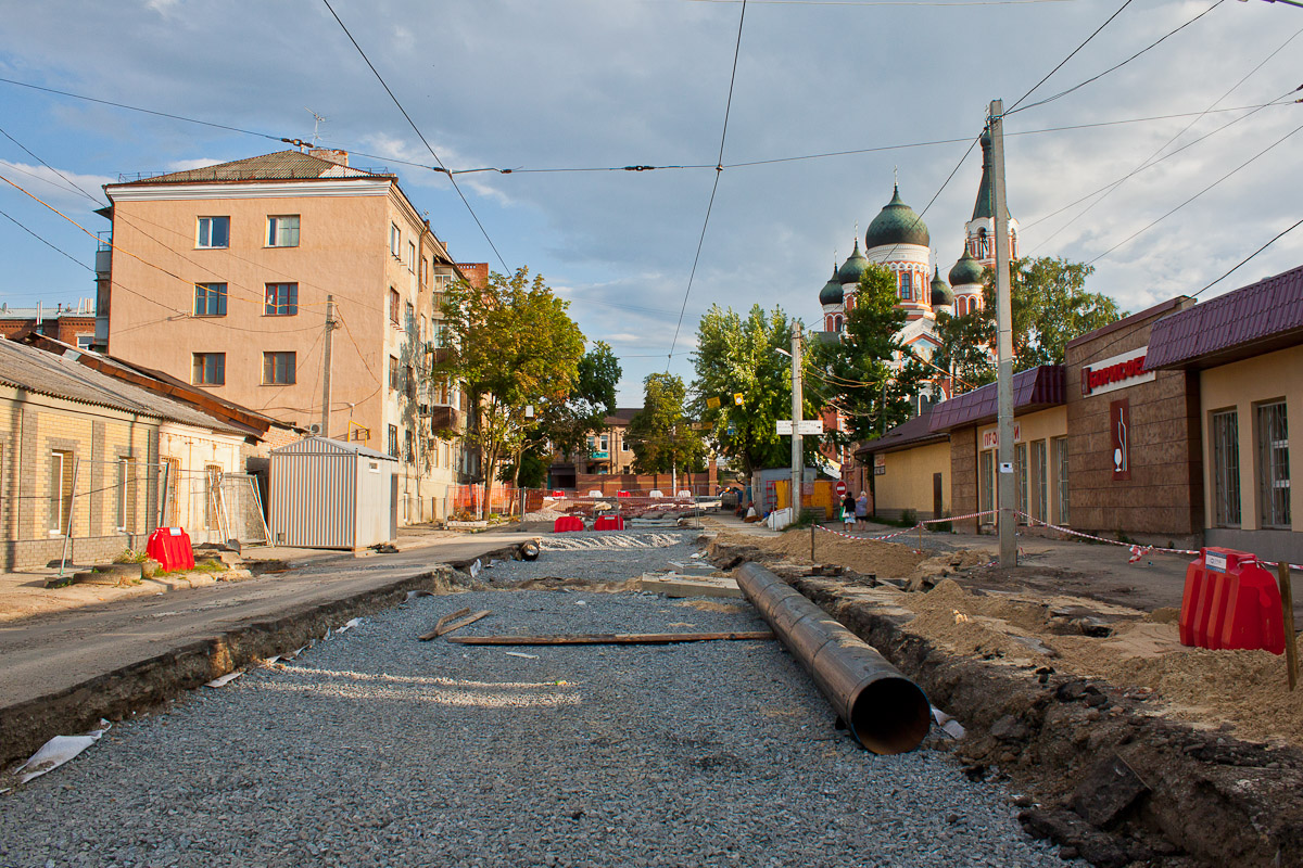
[[[330,3],[429,148],[324,0],[0,0],[0,177],[46,203],[0,182],[0,302],[94,297],[95,242],[52,208],[107,229],[120,174],[283,150],[313,113],[321,146],[399,174],[456,260],[543,275],[620,357],[620,406],[649,373],[691,381],[711,305],[817,324],[894,178],[945,275],[993,99],[1020,252],[1093,263],[1087,289],[1123,310],[1200,290],[1303,217],[1303,8],[1281,3]],[[459,174],[468,208],[422,168],[431,148],[516,170]],[[1299,264],[1303,226],[1200,299]]]

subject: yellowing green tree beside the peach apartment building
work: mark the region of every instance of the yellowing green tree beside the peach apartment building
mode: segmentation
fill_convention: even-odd
[[[482,289],[460,280],[444,294],[447,346],[435,353],[431,376],[460,380],[474,396],[463,437],[482,450],[486,481],[504,459],[521,466],[537,426],[528,410],[537,415],[575,388],[584,334],[568,306],[524,267],[509,277],[490,273]]]

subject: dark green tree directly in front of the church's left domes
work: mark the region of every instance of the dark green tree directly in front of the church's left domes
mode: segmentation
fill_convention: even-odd
[[[877,437],[900,424],[909,418],[911,398],[932,377],[932,368],[911,358],[896,337],[907,319],[896,302],[895,276],[870,264],[860,276],[842,338],[814,350],[812,392],[850,422],[847,431],[829,435],[834,442]]]

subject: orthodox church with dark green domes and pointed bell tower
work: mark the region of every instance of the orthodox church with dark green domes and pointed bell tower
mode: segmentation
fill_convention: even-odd
[[[896,281],[896,307],[906,311],[907,321],[898,333],[906,346],[923,359],[929,359],[941,346],[937,337],[937,314],[946,311],[962,316],[982,307],[982,271],[995,265],[995,207],[992,195],[990,138],[982,135],[981,186],[972,219],[964,224],[964,250],[950,268],[949,282],[941,277],[941,267],[932,251],[932,236],[926,224],[900,198],[896,183],[889,202],[864,233],[864,252],[860,239],[855,250],[833,272],[818,301],[823,310],[823,329],[829,337],[846,331],[846,315],[855,310],[855,295],[860,275],[876,263],[890,271]],[[1009,217],[1010,259],[1018,255],[1018,221]],[[930,272],[930,273],[929,273]],[[902,359],[896,359],[903,363]],[[949,392],[949,383],[938,383]],[[949,397],[937,396],[937,397]]]

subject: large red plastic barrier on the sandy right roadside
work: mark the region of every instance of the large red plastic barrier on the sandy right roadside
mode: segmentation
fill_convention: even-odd
[[[1179,627],[1183,645],[1285,653],[1280,588],[1250,552],[1199,549],[1186,567]]]

